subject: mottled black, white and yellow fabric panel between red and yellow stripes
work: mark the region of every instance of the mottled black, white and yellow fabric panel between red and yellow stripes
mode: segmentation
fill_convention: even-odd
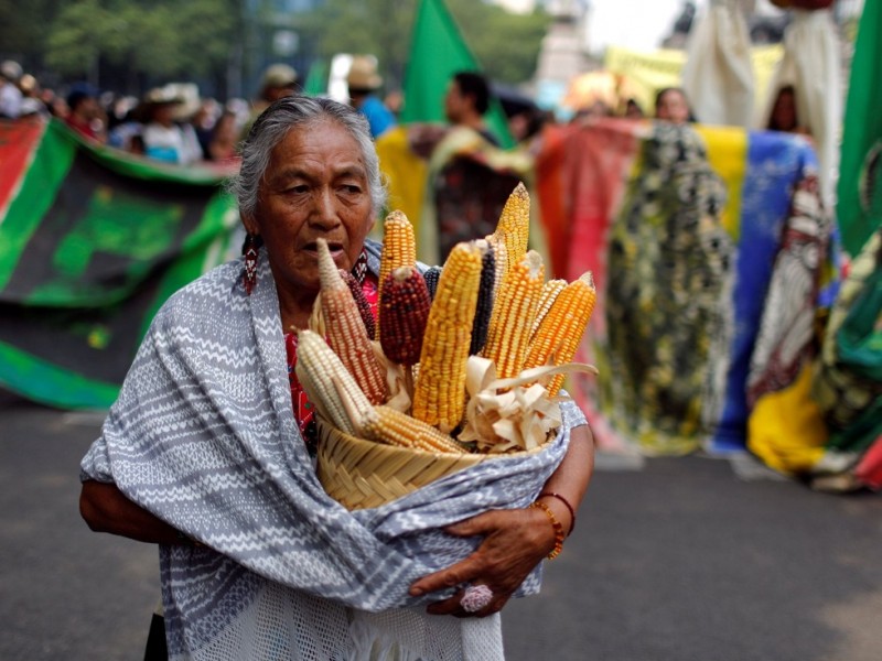
[[[725,191],[697,133],[659,122],[639,158],[610,237],[598,359],[609,360],[613,424],[647,453],[676,454],[697,448],[710,382],[725,368],[733,249]]]

